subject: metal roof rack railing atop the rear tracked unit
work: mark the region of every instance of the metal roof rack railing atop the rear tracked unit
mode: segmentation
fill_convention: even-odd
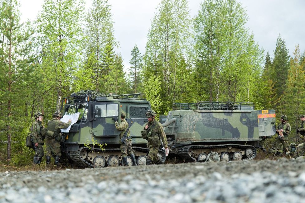
[[[254,103],[231,101],[199,101],[197,103],[174,103],[173,110],[254,110]]]

